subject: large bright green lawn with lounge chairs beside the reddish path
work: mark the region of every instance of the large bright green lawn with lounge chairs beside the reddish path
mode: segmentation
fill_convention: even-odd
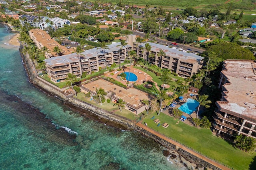
[[[159,119],[162,123],[166,122],[169,127],[166,129],[162,126],[157,127],[154,123],[154,119]],[[234,169],[248,170],[250,162],[252,162],[256,154],[249,154],[247,152],[236,149],[232,144],[224,141],[222,138],[218,138],[212,134],[210,129],[202,129],[191,127],[180,121],[176,124],[178,119],[174,119],[164,113],[157,115],[152,113],[148,115],[142,122],[146,122],[148,127],[170,137],[180,143],[199,151],[200,153],[207,155],[209,158],[218,160]]]

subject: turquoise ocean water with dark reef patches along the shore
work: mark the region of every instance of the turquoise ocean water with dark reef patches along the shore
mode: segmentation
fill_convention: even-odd
[[[0,25],[1,169],[179,169],[151,139],[81,117],[32,86],[10,35]]]

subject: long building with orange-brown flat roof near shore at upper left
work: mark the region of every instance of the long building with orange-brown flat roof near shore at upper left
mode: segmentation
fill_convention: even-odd
[[[30,38],[34,41],[39,49],[42,49],[43,47],[47,47],[49,49],[49,53],[46,53],[46,58],[57,56],[57,54],[53,52],[53,48],[55,46],[60,48],[61,55],[68,55],[74,52],[73,49],[67,49],[65,46],[60,45],[57,41],[52,39],[52,37],[46,33],[46,31],[43,31],[42,29],[30,29],[28,33]]]

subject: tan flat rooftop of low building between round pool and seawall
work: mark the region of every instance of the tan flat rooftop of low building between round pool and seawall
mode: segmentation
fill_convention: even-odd
[[[93,82],[85,84],[84,87],[88,88],[93,92],[96,92],[96,88],[103,88],[105,92],[111,90],[112,92],[116,93],[117,98],[121,98],[125,102],[136,106],[142,105],[140,100],[151,100],[148,97],[147,93],[137,90],[136,88],[124,89],[103,79],[95,80]]]

